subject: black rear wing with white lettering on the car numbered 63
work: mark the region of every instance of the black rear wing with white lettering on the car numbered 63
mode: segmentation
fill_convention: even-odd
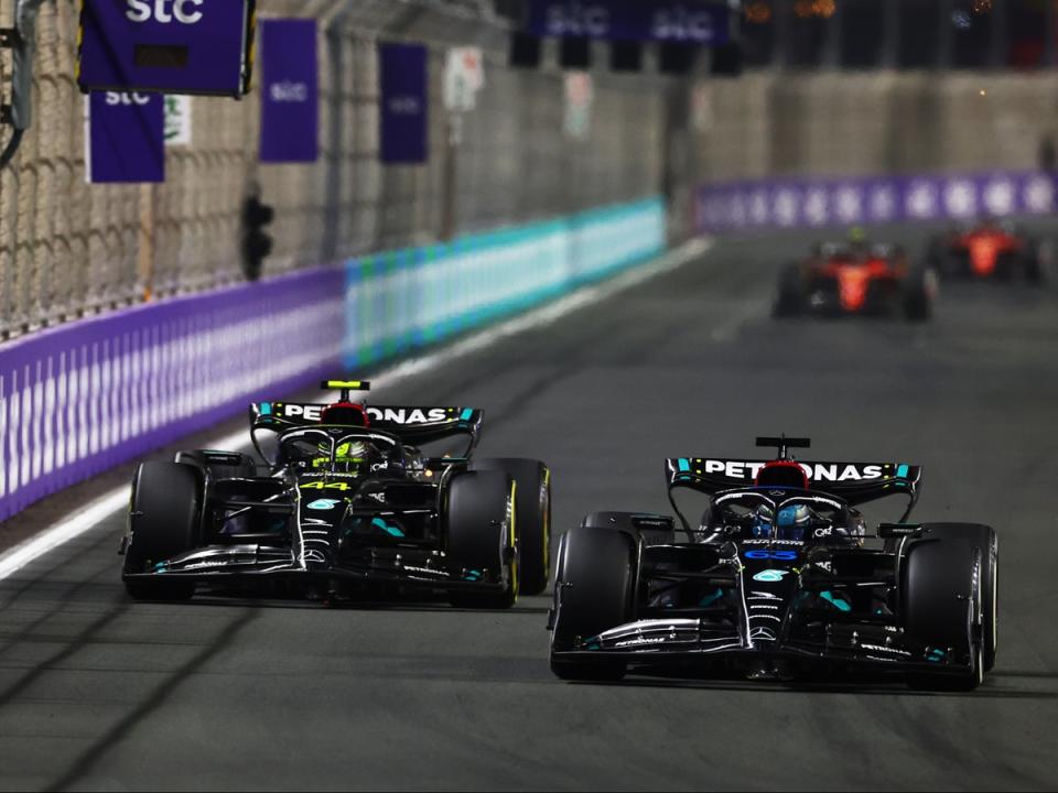
[[[673,457],[666,460],[669,491],[688,488],[713,496],[724,490],[753,487],[767,460]],[[906,496],[908,519],[918,502],[922,467],[906,463],[797,463],[813,490],[834,496],[851,506],[887,496]]]

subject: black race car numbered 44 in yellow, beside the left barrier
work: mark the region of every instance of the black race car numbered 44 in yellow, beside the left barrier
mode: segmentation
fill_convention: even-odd
[[[365,406],[349,394],[366,382],[324,388],[341,400],[251,405],[266,466],[209,450],[139,466],[122,542],[132,597],[186,599],[199,585],[267,582],[327,600],[419,589],[507,608],[519,591],[547,588],[547,466],[472,460],[479,410]],[[461,438],[460,456],[420,449]]]

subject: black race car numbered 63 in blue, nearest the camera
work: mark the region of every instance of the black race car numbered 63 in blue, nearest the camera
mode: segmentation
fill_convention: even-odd
[[[921,468],[905,464],[677,458],[679,515],[598,512],[559,543],[551,667],[618,680],[691,665],[749,678],[874,669],[916,687],[972,689],[995,662],[995,532],[907,523]],[[680,491],[708,497],[691,524]],[[683,493],[687,495],[685,492]],[[907,498],[867,532],[857,504]],[[701,498],[701,497],[700,497]]]

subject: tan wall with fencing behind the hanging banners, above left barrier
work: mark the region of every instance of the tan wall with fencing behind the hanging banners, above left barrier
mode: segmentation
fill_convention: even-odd
[[[258,163],[260,105],[195,97],[193,143],[170,149],[164,185],[85,183],[83,100],[74,78],[76,0],[41,9],[35,122],[0,172],[0,339],[123,306],[239,283],[240,209],[251,185],[277,208],[267,274],[422,246],[630,202],[662,192],[666,95],[673,80],[595,73],[592,131],[563,132],[564,78],[507,65],[508,31],[484,12],[435,0],[260,0],[260,15],[320,21],[321,159]],[[0,26],[15,0],[0,0]],[[337,9],[339,15],[328,17]],[[379,162],[377,44],[431,48],[431,157]],[[445,182],[442,64],[454,45],[487,58],[479,108],[465,119],[455,187]],[[10,51],[0,51],[0,102]],[[6,142],[8,130],[0,137]],[[445,211],[454,207],[454,224]]]

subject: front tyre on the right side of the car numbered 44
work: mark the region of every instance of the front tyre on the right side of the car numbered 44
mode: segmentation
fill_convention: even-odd
[[[445,552],[453,575],[498,579],[503,591],[453,589],[458,608],[508,609],[518,600],[518,521],[515,481],[504,471],[465,471],[449,485]],[[467,578],[469,580],[469,578]]]

